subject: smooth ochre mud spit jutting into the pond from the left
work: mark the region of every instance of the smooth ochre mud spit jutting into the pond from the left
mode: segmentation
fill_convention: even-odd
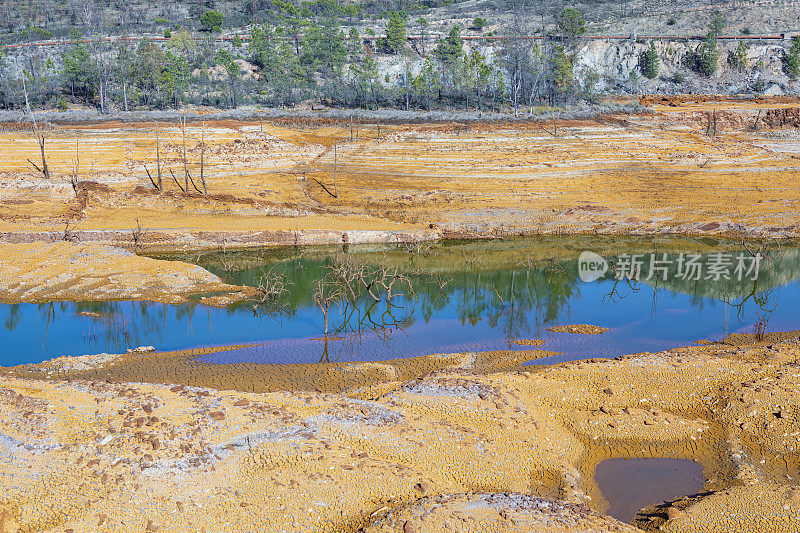
[[[174,304],[200,293],[226,293],[225,303],[229,303],[235,295],[244,297],[251,292],[225,284],[196,265],[140,257],[112,246],[0,244],[3,303],[127,299]]]

